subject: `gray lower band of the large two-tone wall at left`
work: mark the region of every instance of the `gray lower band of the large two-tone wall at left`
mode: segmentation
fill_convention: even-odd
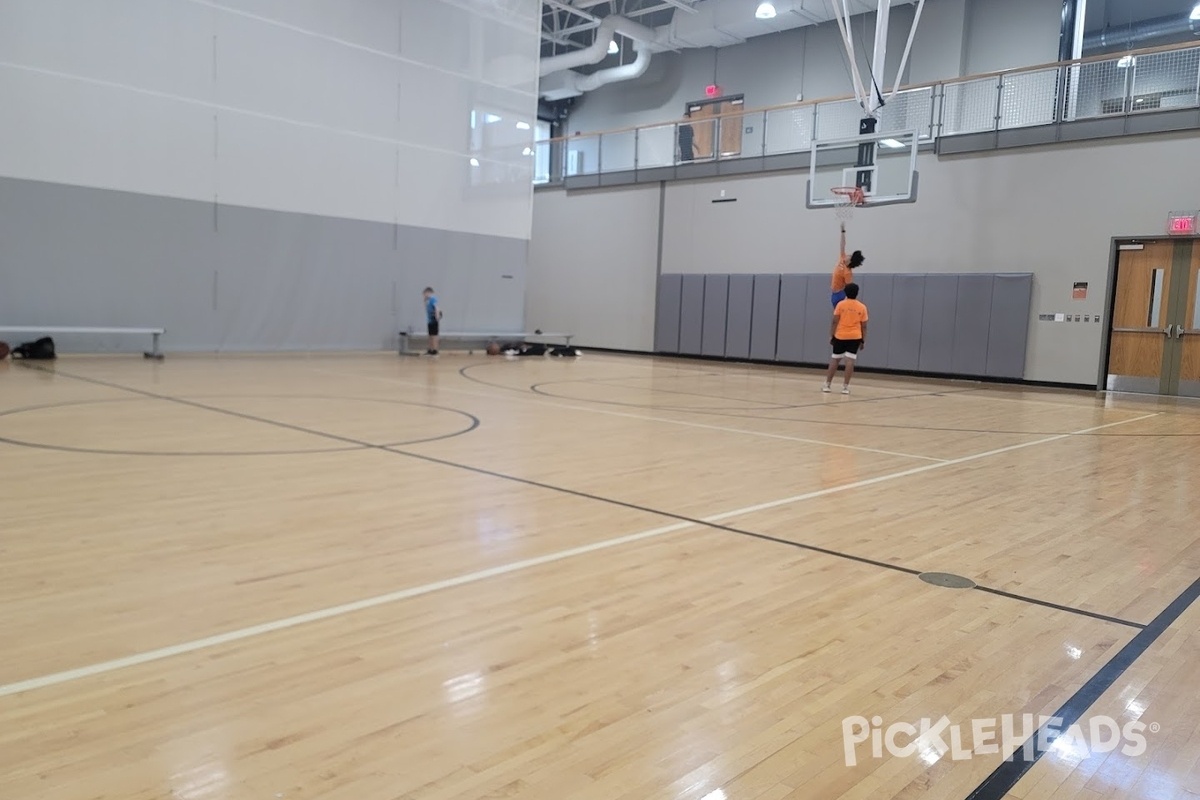
[[[426,285],[444,329],[521,330],[527,258],[518,239],[0,179],[0,324],[164,326],[167,351],[392,348],[424,327]]]

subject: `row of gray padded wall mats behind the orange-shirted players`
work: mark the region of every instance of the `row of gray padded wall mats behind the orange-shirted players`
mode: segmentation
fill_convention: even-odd
[[[859,363],[928,374],[1022,378],[1030,273],[858,276],[870,311]],[[661,353],[823,365],[829,278],[821,275],[664,275]]]

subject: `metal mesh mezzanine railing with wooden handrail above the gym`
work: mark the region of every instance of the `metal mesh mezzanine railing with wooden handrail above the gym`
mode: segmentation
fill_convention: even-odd
[[[1189,43],[910,86],[883,107],[876,130],[916,130],[922,140],[932,142],[1184,108],[1200,108],[1200,46]],[[546,139],[535,144],[540,174],[534,182],[804,152],[814,139],[857,136],[862,115],[852,97],[835,97]],[[695,137],[707,152],[680,158],[683,125],[694,131],[708,126]],[[736,136],[727,136],[730,126],[738,130]]]

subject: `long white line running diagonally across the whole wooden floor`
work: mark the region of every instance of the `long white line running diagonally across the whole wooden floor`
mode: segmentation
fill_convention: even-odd
[[[1054,437],[1048,437],[1045,439],[1038,439],[1036,441],[1026,441],[1019,445],[1009,445],[1008,447],[989,450],[988,452],[976,453],[974,456],[964,456],[962,458],[955,458],[953,461],[946,461],[937,464],[926,464],[924,467],[916,467],[913,469],[906,469],[900,473],[889,473],[888,475],[880,475],[878,477],[869,477],[862,481],[854,481],[853,483],[845,483],[842,486],[834,486],[828,489],[821,489],[818,492],[808,492],[805,494],[797,494],[794,497],[784,498],[781,500],[760,503],[758,505],[746,506],[744,509],[736,509],[733,511],[726,511],[724,513],[714,515],[712,517],[704,517],[702,522],[719,523],[724,519],[740,517],[748,513],[754,513],[756,511],[776,509],[779,506],[793,503],[802,503],[804,500],[827,497],[829,494],[835,494],[838,492],[848,492],[851,489],[858,489],[866,486],[875,486],[876,483],[894,481],[901,477],[908,477],[910,475],[918,475],[920,473],[929,473],[935,469],[956,467],[959,464],[965,464],[967,462],[978,461],[980,458],[989,458],[991,456],[998,456],[1002,453],[1013,452],[1014,450],[1021,450],[1024,447],[1036,447],[1037,445],[1050,444],[1051,441],[1058,441],[1060,439],[1068,439],[1070,437],[1078,437],[1086,433],[1092,433],[1094,431],[1116,427],[1118,425],[1140,422],[1142,420],[1148,420],[1158,415],[1159,415],[1158,413],[1146,414],[1145,416],[1134,417],[1132,420],[1121,420],[1118,422],[1109,422],[1108,425],[1098,425],[1096,427],[1084,428],[1082,431],[1075,431],[1073,433],[1061,433]],[[620,545],[629,545],[630,542],[638,542],[647,539],[654,539],[655,536],[662,536],[664,534],[671,534],[679,530],[685,530],[688,528],[694,528],[695,525],[696,523],[692,522],[677,522],[670,525],[662,525],[660,528],[652,528],[650,530],[643,530],[637,534],[629,534],[625,536],[618,536],[616,539],[606,539],[604,541],[593,542],[592,545],[584,545],[582,547],[572,547],[571,549],[559,551],[557,553],[550,553],[547,555],[539,555],[536,558],[526,559],[523,561],[514,561],[512,564],[494,566],[487,570],[479,570],[478,572],[469,572],[467,575],[461,575],[456,578],[446,578],[445,581],[437,581],[434,583],[427,583],[421,587],[401,589],[400,591],[392,591],[385,595],[378,595],[376,597],[367,597],[366,600],[343,603],[341,606],[332,606],[330,608],[323,608],[320,610],[308,612],[306,614],[298,614],[295,616],[288,616],[287,619],[275,620],[272,622],[252,625],[250,627],[244,627],[236,631],[218,633],[216,636],[209,636],[203,639],[185,642],[184,644],[175,644],[168,648],[160,648],[158,650],[150,650],[148,652],[140,652],[137,655],[127,656],[125,658],[102,661],[100,663],[90,664],[88,667],[80,667],[78,669],[68,669],[66,672],[52,673],[49,675],[42,675],[41,678],[30,678],[29,680],[17,681],[16,684],[6,684],[4,686],[0,686],[0,697],[7,697],[10,694],[19,694],[22,692],[29,692],[36,688],[46,688],[47,686],[56,686],[59,684],[67,684],[84,678],[94,678],[96,675],[103,675],[104,673],[116,672],[118,669],[125,669],[127,667],[137,667],[139,664],[150,663],[152,661],[170,658],[172,656],[196,652],[197,650],[215,648],[222,644],[229,644],[232,642],[240,642],[242,639],[262,636],[264,633],[284,631],[287,628],[296,627],[298,625],[305,625],[307,622],[316,622],[320,620],[332,619],[335,616],[343,616],[346,614],[353,614],[354,612],[365,610],[367,608],[376,608],[378,606],[385,606],[389,603],[400,602],[401,600],[419,597],[421,595],[427,595],[430,593],[439,591],[442,589],[462,587],[468,583],[476,583],[486,578],[493,578],[496,576],[508,575],[510,572],[517,572],[520,570],[526,570],[533,566],[541,566],[542,564],[552,564],[554,561],[562,561],[564,559],[574,558],[576,555],[584,555],[587,553],[595,553],[596,551],[619,547]]]

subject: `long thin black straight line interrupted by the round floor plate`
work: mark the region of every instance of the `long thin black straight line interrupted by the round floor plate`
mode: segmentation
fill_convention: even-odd
[[[877,559],[871,559],[871,558],[866,558],[866,557],[863,557],[863,555],[854,555],[852,553],[844,553],[844,552],[834,551],[834,549],[830,549],[830,548],[827,548],[827,547],[818,547],[816,545],[806,545],[804,542],[797,542],[797,541],[792,541],[792,540],[788,540],[788,539],[780,539],[778,536],[772,536],[769,534],[760,534],[760,533],[756,533],[756,531],[752,531],[752,530],[744,530],[742,528],[733,528],[732,525],[722,525],[722,524],[716,523],[716,522],[708,522],[708,521],[700,519],[700,518],[696,518],[696,517],[689,517],[686,515],[676,513],[673,511],[664,511],[661,509],[652,509],[649,506],[643,506],[643,505],[640,505],[637,503],[629,503],[626,500],[617,500],[614,498],[606,498],[606,497],[601,497],[599,494],[590,494],[588,492],[581,492],[580,489],[571,489],[571,488],[566,488],[566,487],[563,487],[563,486],[554,486],[553,483],[544,483],[541,481],[535,481],[533,479],[521,477],[521,476],[517,476],[517,475],[506,475],[504,473],[498,473],[498,471],[491,470],[491,469],[484,469],[481,467],[472,467],[469,464],[460,464],[457,462],[448,461],[445,458],[438,458],[436,456],[427,456],[427,455],[424,455],[424,453],[412,452],[412,451],[402,450],[400,447],[395,447],[395,446],[390,446],[390,445],[377,445],[377,444],[372,444],[370,441],[361,441],[359,439],[352,439],[349,437],[343,437],[343,435],[340,435],[340,434],[336,434],[336,433],[328,433],[325,431],[317,431],[314,428],[305,428],[302,426],[292,425],[290,422],[281,422],[278,420],[271,420],[269,417],[254,416],[252,414],[242,414],[241,411],[232,411],[229,409],[223,409],[223,408],[218,408],[218,407],[215,407],[215,405],[205,405],[204,403],[197,403],[194,401],[188,401],[188,399],[184,399],[184,398],[179,398],[179,397],[172,397],[169,395],[160,395],[157,392],[150,392],[150,391],[146,391],[146,390],[143,390],[143,389],[133,389],[131,386],[122,386],[120,384],[114,384],[114,383],[109,383],[109,381],[106,381],[106,380],[100,380],[97,378],[86,378],[84,375],[74,375],[74,374],[71,374],[71,373],[67,373],[67,372],[60,372],[58,369],[50,371],[50,369],[46,369],[44,367],[29,366],[26,368],[29,368],[29,369],[41,369],[43,372],[53,372],[53,374],[61,375],[64,378],[71,378],[73,380],[80,380],[80,381],[84,381],[84,383],[95,384],[97,386],[106,386],[108,389],[115,389],[115,390],[119,390],[119,391],[126,391],[126,392],[131,392],[131,393],[134,393],[134,395],[140,395],[143,397],[152,397],[152,398],[156,398],[156,399],[166,401],[168,403],[180,403],[182,405],[188,405],[188,407],[192,407],[192,408],[204,409],[206,411],[214,411],[216,414],[224,414],[224,415],[239,417],[239,419],[242,419],[242,420],[250,420],[250,421],[253,421],[253,422],[262,422],[263,425],[271,425],[271,426],[280,427],[280,428],[286,428],[286,429],[289,429],[289,431],[296,431],[296,432],[300,432],[300,433],[307,433],[307,434],[314,435],[314,437],[322,437],[322,438],[325,438],[325,439],[332,439],[335,441],[342,441],[342,443],[346,443],[346,444],[359,445],[362,449],[378,450],[380,452],[390,452],[390,453],[395,453],[397,456],[406,456],[408,458],[414,458],[414,459],[418,459],[418,461],[424,461],[424,462],[430,463],[430,464],[439,464],[442,467],[449,467],[451,469],[461,469],[461,470],[466,470],[466,471],[469,471],[469,473],[474,473],[476,475],[487,475],[490,477],[496,477],[496,479],[499,479],[499,480],[503,480],[503,481],[509,481],[509,482],[512,482],[512,483],[521,483],[523,486],[532,486],[532,487],[535,487],[535,488],[546,489],[548,492],[556,492],[556,493],[559,493],[559,494],[568,494],[568,495],[581,498],[581,499],[586,499],[586,500],[594,500],[596,503],[604,503],[606,505],[617,506],[617,507],[622,507],[622,509],[629,509],[631,511],[641,511],[643,513],[648,513],[648,515],[653,515],[653,516],[659,516],[659,517],[665,517],[667,519],[674,519],[677,522],[686,522],[686,523],[696,525],[698,528],[708,528],[709,530],[721,530],[721,531],[730,533],[730,534],[737,534],[738,536],[745,536],[748,539],[756,539],[756,540],[760,540],[760,541],[774,542],[776,545],[786,545],[788,547],[794,547],[797,549],[808,551],[810,553],[821,553],[822,555],[829,555],[829,557],[833,557],[833,558],[836,558],[836,559],[842,559],[842,560],[846,560],[846,561],[854,561],[857,564],[866,564],[869,566],[876,566],[876,567],[880,567],[880,569],[883,569],[883,570],[890,570],[893,572],[901,572],[904,575],[910,575],[910,576],[913,576],[913,577],[916,577],[916,576],[918,576],[918,575],[922,573],[922,570],[913,570],[911,567],[901,566],[899,564],[892,564],[889,561],[880,561]],[[977,587],[977,588],[982,588],[982,587]],[[1145,627],[1140,622],[1134,622],[1134,621],[1130,621],[1130,620],[1123,620],[1123,619],[1120,619],[1120,618],[1116,618],[1116,616],[1104,616],[1104,615],[1100,615],[1100,614],[1096,614],[1094,612],[1088,612],[1088,610],[1084,610],[1084,609],[1080,609],[1080,608],[1072,608],[1069,606],[1058,606],[1058,604],[1055,604],[1055,603],[1050,603],[1048,601],[1042,601],[1042,600],[1036,600],[1036,599],[1031,599],[1031,597],[1025,597],[1022,595],[1016,595],[1016,594],[1012,594],[1012,593],[1002,593],[1002,591],[998,591],[998,590],[996,590],[995,594],[998,595],[998,596],[1008,597],[1010,600],[1016,600],[1016,601],[1020,601],[1020,602],[1027,602],[1027,603],[1033,604],[1033,606],[1043,606],[1043,607],[1048,607],[1048,608],[1055,608],[1055,609],[1063,610],[1063,612],[1067,612],[1067,613],[1070,613],[1070,614],[1075,614],[1075,615],[1088,616],[1088,618],[1092,618],[1092,619],[1102,619],[1104,621],[1115,622],[1117,625],[1124,625],[1124,626],[1128,626],[1128,627],[1136,627],[1136,628]]]

